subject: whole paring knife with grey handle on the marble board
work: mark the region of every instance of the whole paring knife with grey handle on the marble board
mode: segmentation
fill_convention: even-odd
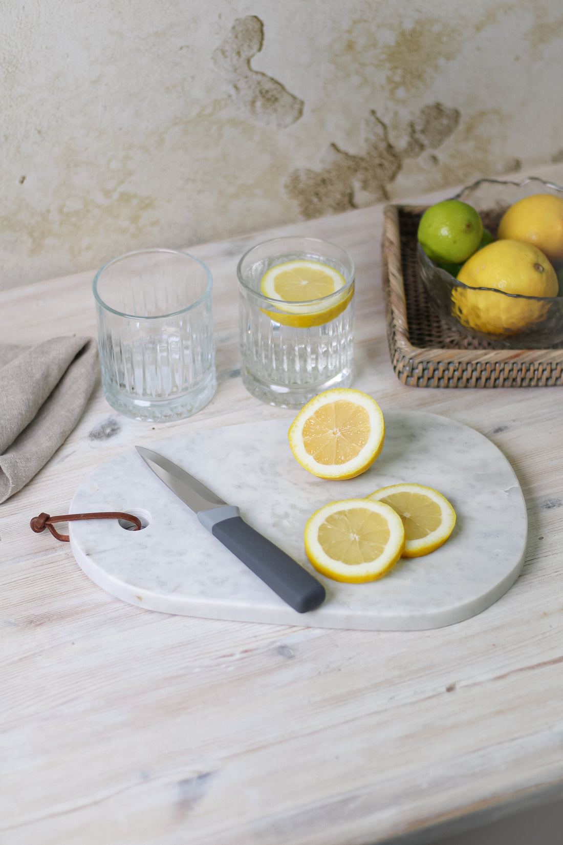
[[[318,608],[325,589],[316,578],[249,526],[234,504],[219,499],[181,466],[143,446],[135,447],[150,469],[197,515],[203,527],[298,613]]]

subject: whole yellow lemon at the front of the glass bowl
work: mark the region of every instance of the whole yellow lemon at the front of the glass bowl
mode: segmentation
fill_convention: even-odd
[[[476,331],[492,335],[517,335],[545,319],[549,303],[537,299],[506,297],[556,297],[555,270],[545,255],[531,243],[501,240],[490,243],[463,264],[458,281],[472,291],[457,287],[452,292],[452,314]]]

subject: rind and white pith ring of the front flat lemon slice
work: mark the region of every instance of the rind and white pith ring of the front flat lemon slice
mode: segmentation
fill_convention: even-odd
[[[345,564],[342,561],[330,558],[318,542],[318,530],[326,518],[338,510],[350,510],[352,508],[365,508],[380,514],[387,519],[387,525],[391,532],[389,542],[384,552],[376,559],[365,564]],[[376,507],[373,507],[376,505]],[[404,548],[404,528],[401,517],[388,504],[382,504],[373,499],[339,499],[328,502],[311,514],[305,527],[305,551],[311,565],[333,581],[340,581],[347,584],[363,584],[367,581],[378,581],[383,575],[392,570],[392,567],[401,558]]]

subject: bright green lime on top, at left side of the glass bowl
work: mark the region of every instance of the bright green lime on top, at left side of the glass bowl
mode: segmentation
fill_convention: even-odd
[[[463,264],[479,248],[483,221],[472,205],[444,199],[425,210],[417,237],[432,261]]]

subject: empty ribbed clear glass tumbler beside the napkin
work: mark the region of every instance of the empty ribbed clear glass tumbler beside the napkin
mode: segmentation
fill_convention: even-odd
[[[159,423],[215,392],[212,278],[192,255],[143,249],[95,275],[101,380],[116,411]]]

